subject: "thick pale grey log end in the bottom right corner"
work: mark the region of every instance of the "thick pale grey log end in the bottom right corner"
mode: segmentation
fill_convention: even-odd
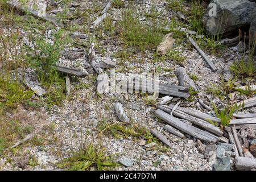
[[[236,169],[240,171],[256,169],[256,159],[236,157]]]

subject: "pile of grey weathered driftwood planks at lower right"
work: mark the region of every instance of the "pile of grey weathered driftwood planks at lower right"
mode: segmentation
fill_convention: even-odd
[[[256,105],[256,97],[241,102],[244,108]],[[253,109],[251,109],[253,110]],[[255,110],[255,109],[254,109]],[[254,111],[253,110],[253,111]],[[190,135],[209,143],[224,142],[233,145],[236,154],[236,169],[250,170],[256,168],[256,112],[250,114],[235,113],[228,126],[221,130],[213,123],[221,123],[220,118],[192,108],[175,105],[158,105],[156,117],[167,123],[164,130],[185,138]],[[212,121],[212,122],[209,122]],[[168,139],[160,132],[151,133],[170,146]]]

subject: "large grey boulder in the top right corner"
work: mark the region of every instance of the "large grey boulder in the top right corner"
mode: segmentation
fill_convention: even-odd
[[[248,0],[230,1],[213,0],[216,4],[216,16],[210,16],[212,7],[208,7],[203,16],[203,23],[210,35],[237,31],[238,28],[250,26],[256,3]]]

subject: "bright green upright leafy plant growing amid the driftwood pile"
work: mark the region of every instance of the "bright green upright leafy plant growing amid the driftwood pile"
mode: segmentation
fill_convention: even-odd
[[[229,125],[232,114],[234,113],[234,111],[238,110],[237,104],[225,106],[220,111],[218,111],[217,107],[212,102],[212,107],[217,117],[221,119],[222,127]]]

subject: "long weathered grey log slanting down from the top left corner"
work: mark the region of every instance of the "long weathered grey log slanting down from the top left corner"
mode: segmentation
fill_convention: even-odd
[[[39,16],[38,11],[35,11],[35,10],[31,9],[30,7],[24,8],[19,3],[16,3],[14,1],[7,1],[6,4],[11,6],[11,7],[14,7],[15,9],[18,9],[20,11],[28,12],[31,15],[35,16],[36,18],[40,18],[42,20],[45,20],[45,21],[51,22],[53,24],[56,24],[57,26],[64,26],[63,24],[58,23],[56,18],[54,18],[54,17],[52,17],[48,14],[46,14],[46,16]]]

